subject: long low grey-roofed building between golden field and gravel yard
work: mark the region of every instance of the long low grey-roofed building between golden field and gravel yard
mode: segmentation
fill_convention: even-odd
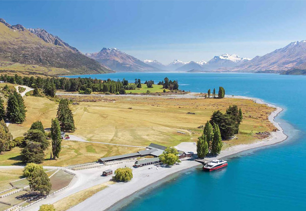
[[[146,150],[138,151],[137,153],[130,153],[125,155],[118,155],[118,156],[112,156],[112,157],[106,157],[106,158],[100,158],[98,159],[98,162],[106,163],[106,162],[112,162],[112,161],[120,161],[120,160],[128,160],[133,158],[140,158],[140,157],[146,157],[146,156],[153,156],[153,157],[159,157],[161,154],[163,154],[164,150],[166,149],[166,146],[162,146],[159,144],[151,143],[149,146],[147,146]],[[177,151],[179,152],[179,158],[186,158],[191,157],[190,154],[186,154],[183,151]]]

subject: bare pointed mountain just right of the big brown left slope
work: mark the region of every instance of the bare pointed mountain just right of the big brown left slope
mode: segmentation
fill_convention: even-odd
[[[85,55],[115,71],[158,71],[157,68],[117,48],[103,48],[99,52],[86,53]]]

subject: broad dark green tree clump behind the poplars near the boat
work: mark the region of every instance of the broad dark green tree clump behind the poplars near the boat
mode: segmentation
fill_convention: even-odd
[[[237,105],[230,106],[223,114],[215,111],[211,116],[210,123],[216,124],[221,132],[222,139],[230,139],[239,132],[239,125],[242,122],[242,110]]]

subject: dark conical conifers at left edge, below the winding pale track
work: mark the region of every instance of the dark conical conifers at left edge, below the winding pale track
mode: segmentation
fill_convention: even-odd
[[[11,123],[23,123],[25,119],[24,101],[19,93],[16,91],[10,93],[7,103],[7,108],[4,108],[4,101],[0,99],[0,120],[8,119]]]

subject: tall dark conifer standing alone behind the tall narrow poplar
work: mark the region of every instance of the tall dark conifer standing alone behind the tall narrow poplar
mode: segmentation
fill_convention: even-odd
[[[57,111],[57,119],[59,120],[61,129],[63,131],[74,131],[74,119],[72,111],[69,108],[68,100],[61,99],[58,111]]]

